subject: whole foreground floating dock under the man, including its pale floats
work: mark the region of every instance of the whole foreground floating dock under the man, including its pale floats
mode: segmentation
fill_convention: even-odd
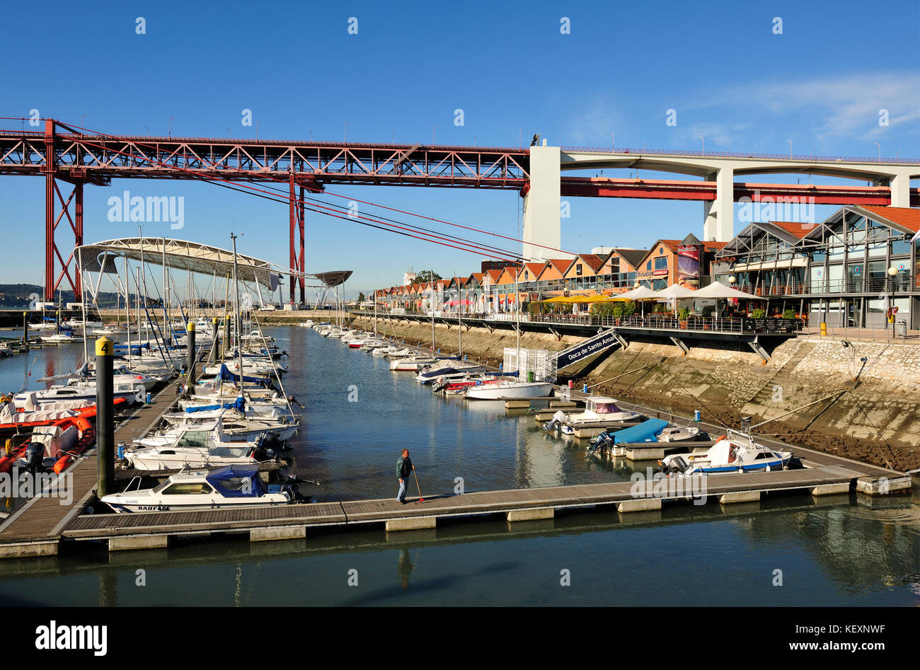
[[[110,550],[168,546],[169,537],[247,532],[251,541],[306,537],[308,528],[384,524],[386,530],[437,526],[439,519],[503,514],[508,521],[553,518],[566,508],[615,505],[627,514],[660,510],[661,503],[712,497],[719,503],[759,501],[765,493],[811,491],[813,495],[848,493],[860,476],[836,466],[730,474],[718,477],[621,481],[539,489],[512,489],[407,499],[392,498],[339,503],[302,503],[246,510],[161,512],[151,514],[85,514],[61,530],[72,540],[108,540]]]

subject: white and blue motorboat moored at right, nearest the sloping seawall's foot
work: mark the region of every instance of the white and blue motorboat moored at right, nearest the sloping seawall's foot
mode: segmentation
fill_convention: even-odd
[[[705,452],[665,456],[661,468],[667,474],[678,475],[769,472],[786,468],[791,458],[790,451],[774,451],[754,442],[750,435],[729,431]]]

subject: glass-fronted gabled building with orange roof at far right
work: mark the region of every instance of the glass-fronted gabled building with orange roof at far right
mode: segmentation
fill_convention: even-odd
[[[793,309],[810,325],[889,324],[889,307],[920,328],[920,209],[845,206],[820,224],[748,225],[717,254],[715,278],[763,295],[768,316]],[[732,282],[733,280],[733,282]]]

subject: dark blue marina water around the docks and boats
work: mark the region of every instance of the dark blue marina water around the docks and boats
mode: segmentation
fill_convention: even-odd
[[[402,448],[428,496],[461,483],[489,491],[633,472],[500,402],[434,396],[385,359],[312,329],[267,332],[291,354],[283,383],[305,405],[294,466],[314,482],[302,491],[316,501],[396,497]],[[0,390],[18,390],[30,367],[29,387],[41,387],[32,380],[73,369],[81,354],[69,345],[2,359]],[[490,517],[389,535],[376,526],[310,531],[305,542],[190,538],[113,554],[99,546],[0,562],[0,606],[915,606],[918,502],[917,493],[826,502],[793,494],[753,508],[665,505],[620,516],[602,507],[512,526]]]

